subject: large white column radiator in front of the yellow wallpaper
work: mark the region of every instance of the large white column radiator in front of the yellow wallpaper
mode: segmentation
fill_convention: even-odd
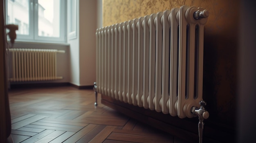
[[[204,24],[182,6],[96,31],[97,92],[180,118],[202,101]]]

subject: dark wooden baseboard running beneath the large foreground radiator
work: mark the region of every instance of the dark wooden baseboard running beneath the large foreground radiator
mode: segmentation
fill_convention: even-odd
[[[170,114],[163,114],[154,110],[117,101],[106,95],[101,95],[101,103],[154,128],[186,140],[187,142],[199,142],[197,117],[180,119],[177,116],[172,117]],[[224,128],[219,126],[211,125],[211,123],[207,121],[205,122],[203,137],[205,143],[235,142],[235,134],[227,132]]]

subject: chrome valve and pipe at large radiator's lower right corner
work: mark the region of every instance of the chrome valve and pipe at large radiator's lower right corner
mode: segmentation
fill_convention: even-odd
[[[193,106],[191,108],[191,113],[198,115],[198,136],[199,136],[199,143],[202,143],[203,138],[203,129],[204,129],[204,119],[208,119],[209,112],[204,108],[206,105],[205,101],[200,101],[200,108]]]

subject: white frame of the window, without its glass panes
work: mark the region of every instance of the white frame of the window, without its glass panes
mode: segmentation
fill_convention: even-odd
[[[7,15],[6,2],[6,17]],[[60,0],[60,37],[38,36],[38,0],[29,0],[29,35],[17,34],[16,41],[21,42],[67,42],[67,0]]]

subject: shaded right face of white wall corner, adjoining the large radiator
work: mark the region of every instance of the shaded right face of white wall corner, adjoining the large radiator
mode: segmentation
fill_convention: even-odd
[[[79,61],[80,85],[96,81],[97,1],[79,1]]]

